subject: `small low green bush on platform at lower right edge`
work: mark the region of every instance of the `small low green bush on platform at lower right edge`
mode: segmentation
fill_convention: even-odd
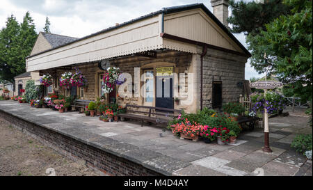
[[[312,134],[298,134],[292,141],[291,147],[303,154],[307,150],[312,150]]]

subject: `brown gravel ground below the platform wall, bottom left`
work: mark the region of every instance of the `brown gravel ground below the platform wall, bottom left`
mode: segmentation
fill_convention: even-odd
[[[0,176],[99,175],[83,161],[72,161],[0,118]]]

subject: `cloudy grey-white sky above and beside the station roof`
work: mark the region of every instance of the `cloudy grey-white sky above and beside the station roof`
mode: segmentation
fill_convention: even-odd
[[[38,32],[42,31],[45,18],[49,17],[51,33],[81,38],[163,7],[190,3],[204,3],[212,10],[210,0],[1,0],[0,28],[6,25],[11,14],[22,22],[29,11]],[[243,34],[235,36],[246,46]],[[250,77],[259,77],[259,74],[247,63],[246,79]]]

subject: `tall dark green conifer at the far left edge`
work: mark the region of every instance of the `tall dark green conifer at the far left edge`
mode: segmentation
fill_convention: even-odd
[[[21,74],[21,70],[15,70],[15,63],[19,62],[19,40],[20,26],[11,15],[6,21],[6,27],[0,31],[0,78],[14,82],[14,77]],[[24,65],[25,66],[25,65]]]

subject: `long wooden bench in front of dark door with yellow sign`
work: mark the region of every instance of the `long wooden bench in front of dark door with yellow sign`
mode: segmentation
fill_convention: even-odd
[[[125,109],[126,113],[118,113],[118,116],[138,120],[141,122],[141,127],[143,126],[143,122],[149,122],[149,124],[154,123],[167,125],[170,120],[177,118],[179,113],[182,113],[182,110],[177,109],[154,106],[137,106],[131,104],[126,104]]]

